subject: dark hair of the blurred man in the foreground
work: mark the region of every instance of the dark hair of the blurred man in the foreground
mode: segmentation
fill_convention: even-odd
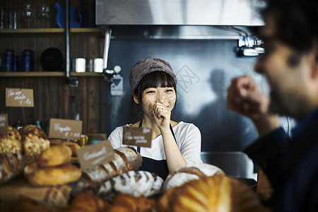
[[[317,42],[317,0],[265,0],[263,16],[276,17],[276,33],[279,40],[285,42],[300,53],[307,53]],[[273,13],[272,13],[273,12]]]

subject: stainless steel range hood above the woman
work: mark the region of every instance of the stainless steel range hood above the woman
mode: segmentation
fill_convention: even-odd
[[[238,39],[264,25],[255,0],[96,0],[96,24],[112,38]]]

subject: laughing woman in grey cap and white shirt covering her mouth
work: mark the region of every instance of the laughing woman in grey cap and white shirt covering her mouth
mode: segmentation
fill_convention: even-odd
[[[154,172],[165,179],[178,167],[202,163],[201,133],[194,124],[170,119],[177,99],[177,78],[170,64],[163,59],[148,57],[139,61],[129,76],[131,101],[139,107],[142,119],[127,126],[152,130],[151,148],[137,148],[143,157],[139,170]],[[113,148],[122,144],[123,127],[110,134]]]

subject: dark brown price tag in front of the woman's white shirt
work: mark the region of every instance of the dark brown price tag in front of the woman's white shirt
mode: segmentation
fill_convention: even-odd
[[[150,148],[151,132],[148,128],[124,126],[122,144]]]

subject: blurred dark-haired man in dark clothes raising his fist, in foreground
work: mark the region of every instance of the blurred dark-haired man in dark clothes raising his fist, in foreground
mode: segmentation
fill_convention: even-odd
[[[228,88],[230,109],[252,119],[259,139],[249,155],[275,191],[274,211],[318,211],[318,1],[267,1],[261,32],[266,53],[255,70],[270,98],[248,76]],[[298,120],[290,139],[277,114]]]

